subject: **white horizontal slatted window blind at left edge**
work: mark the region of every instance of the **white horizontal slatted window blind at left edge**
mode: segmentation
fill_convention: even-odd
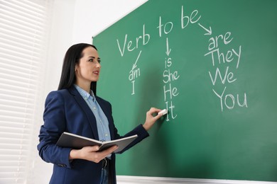
[[[53,0],[0,0],[0,183],[33,183]]]

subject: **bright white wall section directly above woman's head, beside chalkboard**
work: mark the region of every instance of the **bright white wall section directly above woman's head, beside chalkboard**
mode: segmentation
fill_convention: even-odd
[[[73,42],[89,42],[92,36],[102,32],[147,0],[77,0]]]

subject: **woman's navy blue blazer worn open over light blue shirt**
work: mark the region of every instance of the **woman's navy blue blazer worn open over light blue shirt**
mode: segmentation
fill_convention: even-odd
[[[109,121],[111,139],[121,138],[114,126],[112,105],[98,96],[96,99]],[[71,149],[55,145],[63,132],[99,139],[94,114],[77,89],[72,86],[69,89],[50,92],[45,100],[43,120],[44,124],[40,127],[38,151],[44,161],[54,164],[50,183],[99,183],[102,171],[101,163],[82,159],[69,161]],[[142,125],[139,125],[122,137],[134,134],[138,134],[139,137],[121,153],[149,135]],[[116,183],[114,154],[112,154],[110,171],[112,183]]]

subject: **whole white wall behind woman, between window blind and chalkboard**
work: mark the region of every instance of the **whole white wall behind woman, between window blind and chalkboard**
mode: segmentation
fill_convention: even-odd
[[[63,57],[71,45],[78,42],[91,43],[93,35],[108,28],[146,1],[55,0],[42,98],[45,99],[50,91],[58,88]],[[45,163],[38,156],[34,160],[34,183],[49,183],[53,165]]]

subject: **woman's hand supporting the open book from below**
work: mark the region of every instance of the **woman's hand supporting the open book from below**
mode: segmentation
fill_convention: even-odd
[[[112,146],[104,151],[99,151],[99,146],[85,146],[82,149],[72,149],[70,151],[69,159],[84,159],[87,161],[93,161],[99,163],[102,159],[106,158],[109,154],[112,154],[118,146]]]

